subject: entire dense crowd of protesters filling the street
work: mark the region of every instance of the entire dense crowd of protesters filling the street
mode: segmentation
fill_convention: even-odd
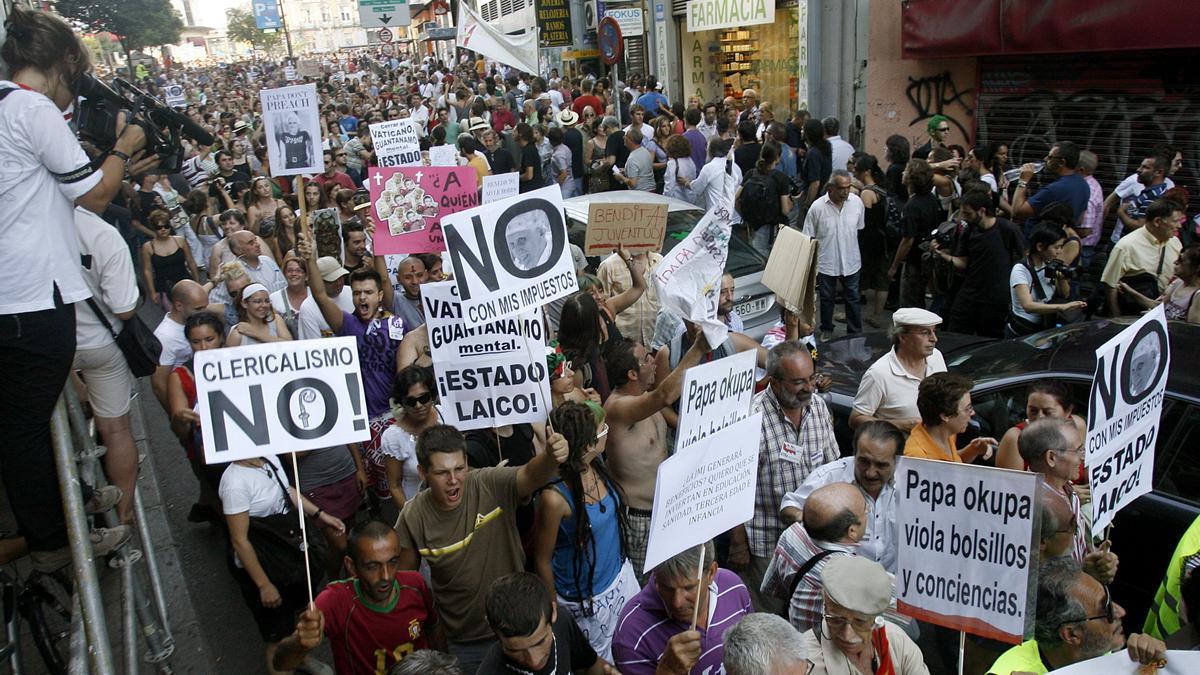
[[[1069,139],[1049,149],[1044,167],[1009,167],[1003,139],[947,145],[949,121],[934,117],[917,149],[901,136],[856,149],[838,119],[749,89],[671,101],[654,76],[533,76],[462,50],[452,64],[358,50],[296,76],[317,83],[325,161],[301,191],[271,175],[260,118],[258,89],[288,84],[283,64],[156,68],[139,85],[184,85],[185,113],[215,142],[185,142],[180,171],[163,174],[130,131],[95,168],[56,121],[71,98],[58,84],[72,80],[62,68],[85,68],[85,53],[40,14],[17,11],[11,24],[0,55],[20,89],[0,85],[16,91],[0,106],[0,135],[24,139],[0,153],[17,156],[43,137],[66,149],[44,166],[32,149],[23,165],[0,163],[0,195],[19,191],[29,204],[17,220],[0,216],[6,287],[22,293],[0,312],[18,328],[23,312],[71,312],[76,331],[68,352],[59,345],[66,319],[42,328],[55,338],[49,346],[20,330],[0,342],[10,383],[54,384],[44,411],[26,412],[30,401],[13,399],[30,395],[23,390],[8,392],[0,413],[0,436],[24,443],[23,454],[5,450],[4,480],[36,565],[70,560],[61,515],[49,513],[58,488],[40,431],[67,370],[86,388],[118,488],[86,495],[88,506],[115,507],[125,524],[97,531],[96,552],[128,538],[136,380],[109,325],[150,303],[164,312],[150,382],[182,446],[154,450],[158,461],[190,462],[198,497],[188,520],[228,533],[230,569],[272,673],[328,671],[311,656],[326,640],[338,673],[952,668],[943,631],[895,611],[901,454],[1032,471],[1049,488],[1037,640],[1007,652],[974,645],[986,671],[1045,673],[1126,644],[1123,610],[1106,590],[1118,561],[1088,527],[1076,401],[1061,383],[1039,382],[1024,422],[960,448],[972,383],[948,371],[937,334],[1019,336],[1158,304],[1171,319],[1200,321],[1200,246],[1183,245],[1196,233],[1187,191],[1171,180],[1183,161],[1174,149],[1144,149],[1138,173],[1105,198],[1092,175],[1102,159]],[[49,131],[23,126],[37,113]],[[421,285],[452,270],[438,255],[389,261],[371,250],[371,125],[392,119],[419,123],[426,150],[454,145],[480,178],[517,173],[521,192],[646,191],[701,208],[732,199],[734,235],[764,258],[781,228],[800,229],[820,241],[817,316],[784,307],[760,344],[742,333],[726,275],[718,316],[731,334],[709,345],[659,305],[649,277],[661,256],[620,250],[592,267],[581,255],[580,291],[545,307],[554,339],[547,423],[462,432],[442,422],[420,303]],[[77,204],[73,220],[70,205],[43,214],[29,175]],[[331,247],[319,229],[305,234],[301,201],[305,217],[336,207]],[[35,234],[47,222],[55,234]],[[864,329],[887,329],[893,348],[863,375],[853,442],[839,447],[817,354],[835,333]],[[302,453],[298,477],[274,456],[205,465],[196,352],[330,336],[356,341],[370,440]],[[46,376],[50,347],[61,377]],[[755,352],[764,372],[754,400],[763,416],[754,518],[646,573],[655,473],[674,447],[683,372],[738,352]],[[35,455],[36,473],[26,471]],[[304,494],[290,488],[296,479]],[[55,501],[30,496],[35,483]],[[252,533],[298,508],[324,555],[308,571],[280,569]],[[320,589],[313,607],[306,573]],[[1181,583],[1194,597],[1200,583],[1176,579],[1172,592]],[[1160,658],[1166,635],[1130,635],[1130,658]],[[923,653],[918,639],[938,653]]]

